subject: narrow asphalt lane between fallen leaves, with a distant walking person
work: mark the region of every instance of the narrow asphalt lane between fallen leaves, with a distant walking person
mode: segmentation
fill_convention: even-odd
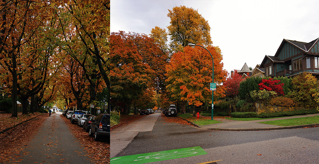
[[[60,115],[51,114],[39,127],[37,134],[22,147],[19,154],[22,161],[18,163],[93,163]]]

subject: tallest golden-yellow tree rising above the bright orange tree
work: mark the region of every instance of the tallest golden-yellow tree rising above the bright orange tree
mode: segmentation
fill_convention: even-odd
[[[167,27],[171,36],[170,47],[173,52],[183,51],[189,43],[207,47],[212,44],[208,22],[197,10],[185,6],[175,6],[168,10],[171,19]]]

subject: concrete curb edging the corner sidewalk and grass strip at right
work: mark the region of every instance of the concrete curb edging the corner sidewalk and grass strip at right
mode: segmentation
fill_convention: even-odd
[[[309,125],[296,125],[296,126],[280,126],[280,127],[254,127],[254,128],[207,128],[212,130],[228,130],[228,131],[259,131],[259,130],[281,130],[281,129],[295,129],[295,128],[304,128],[319,126],[318,124],[309,124]]]

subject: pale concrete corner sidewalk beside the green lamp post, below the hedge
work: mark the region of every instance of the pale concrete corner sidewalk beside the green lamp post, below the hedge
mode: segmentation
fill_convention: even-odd
[[[216,120],[222,121],[222,123],[203,125],[199,127],[204,129],[216,129],[216,130],[254,131],[254,130],[278,130],[278,129],[293,129],[293,128],[319,126],[319,123],[311,124],[311,125],[298,125],[298,126],[276,126],[276,125],[257,123],[257,122],[263,122],[263,121],[285,120],[285,119],[312,117],[312,116],[319,116],[319,113],[309,114],[309,115],[300,115],[300,116],[291,116],[291,117],[281,117],[281,118],[274,118],[274,119],[265,119],[265,120],[253,120],[253,121],[238,121],[238,120],[227,120],[227,119],[220,118]]]

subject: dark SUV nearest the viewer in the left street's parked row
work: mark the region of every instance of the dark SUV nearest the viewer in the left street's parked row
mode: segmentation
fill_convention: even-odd
[[[91,123],[89,136],[94,135],[94,140],[100,140],[100,137],[110,137],[110,114],[99,114]]]

